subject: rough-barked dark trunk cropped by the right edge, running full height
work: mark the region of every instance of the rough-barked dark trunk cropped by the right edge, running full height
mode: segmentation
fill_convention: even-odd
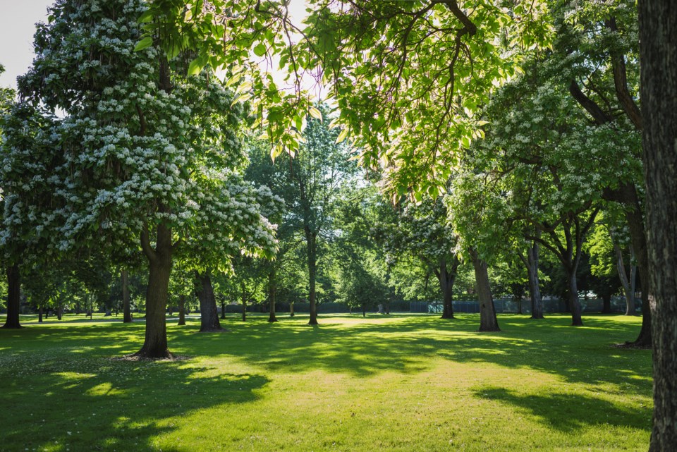
[[[654,418],[650,452],[677,445],[677,3],[640,0],[644,171],[651,293]]]

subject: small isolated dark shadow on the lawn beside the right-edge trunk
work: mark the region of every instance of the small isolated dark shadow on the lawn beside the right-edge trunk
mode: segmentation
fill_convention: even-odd
[[[518,394],[500,387],[476,389],[475,396],[490,401],[511,405],[526,415],[537,418],[547,427],[560,432],[576,432],[591,425],[614,427],[637,427],[649,429],[651,408],[628,408],[602,398],[571,393],[547,395]],[[581,416],[585,413],[585,416]]]

